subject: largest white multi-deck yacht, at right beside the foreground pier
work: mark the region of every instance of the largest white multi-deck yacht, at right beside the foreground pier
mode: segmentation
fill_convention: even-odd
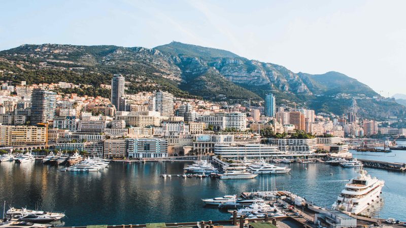
[[[385,181],[367,175],[366,170],[361,169],[357,177],[352,178],[341,192],[332,209],[359,214],[370,204],[379,200],[381,189]]]

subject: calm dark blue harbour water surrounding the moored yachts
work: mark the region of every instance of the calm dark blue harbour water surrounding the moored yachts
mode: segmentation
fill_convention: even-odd
[[[250,180],[159,177],[164,169],[166,173],[180,174],[186,165],[113,163],[104,171],[65,173],[40,162],[23,165],[3,162],[0,163],[0,200],[14,207],[34,208],[39,204],[42,210],[65,212],[66,226],[220,220],[227,219],[229,214],[204,207],[200,199],[239,194],[260,186],[266,189],[266,183],[270,186],[270,178],[275,177],[279,190],[285,189],[320,206],[329,206],[347,180],[356,175],[355,168],[318,163],[286,165],[292,168],[290,174],[264,175]],[[367,170],[386,181],[379,216],[406,220],[406,174]]]

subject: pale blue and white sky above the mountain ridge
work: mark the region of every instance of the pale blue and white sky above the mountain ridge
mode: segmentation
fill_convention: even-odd
[[[178,41],[406,94],[406,1],[2,1],[0,50]]]

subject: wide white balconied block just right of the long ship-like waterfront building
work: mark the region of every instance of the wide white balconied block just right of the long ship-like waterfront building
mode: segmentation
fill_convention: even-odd
[[[316,138],[312,139],[272,139],[272,143],[277,145],[280,151],[292,154],[312,154],[317,150]]]

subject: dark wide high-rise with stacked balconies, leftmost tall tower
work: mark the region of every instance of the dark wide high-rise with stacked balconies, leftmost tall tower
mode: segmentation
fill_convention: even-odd
[[[31,125],[46,123],[54,119],[56,93],[44,89],[34,89],[31,103]]]

